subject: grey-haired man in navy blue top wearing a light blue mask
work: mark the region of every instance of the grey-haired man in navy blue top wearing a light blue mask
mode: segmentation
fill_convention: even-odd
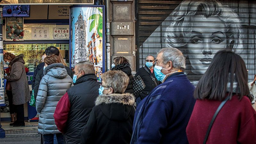
[[[186,127],[196,100],[185,68],[185,57],[178,49],[158,52],[154,73],[162,84],[138,105],[131,144],[188,144]]]

